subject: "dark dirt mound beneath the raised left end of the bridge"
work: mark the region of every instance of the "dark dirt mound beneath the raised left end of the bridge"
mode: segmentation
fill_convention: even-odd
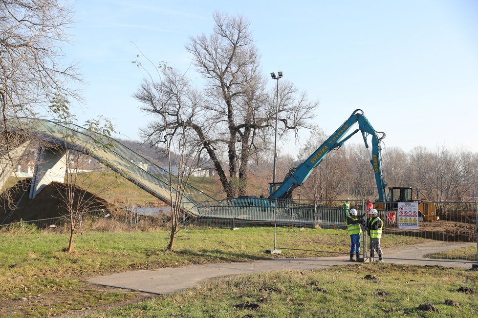
[[[66,193],[65,184],[52,182],[45,186],[43,190],[37,194],[35,199],[30,200],[28,198],[30,193],[30,182],[31,179],[24,179],[11,188],[11,196],[16,203],[17,208],[3,223],[12,223],[19,221],[20,219],[23,219],[24,221],[49,219],[68,214],[65,208],[65,200],[62,199],[62,196],[65,196]],[[88,202],[87,207],[88,210],[91,211],[111,208],[111,205],[107,201],[80,188],[74,189],[74,197],[81,197],[83,202]],[[10,209],[8,208],[2,194],[2,198],[0,199],[0,220],[4,220],[9,214]]]

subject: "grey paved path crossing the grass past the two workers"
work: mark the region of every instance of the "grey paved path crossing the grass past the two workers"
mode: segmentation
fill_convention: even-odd
[[[400,247],[394,251],[384,251],[384,260],[389,263],[472,268],[473,263],[470,262],[436,260],[423,258],[423,255],[470,246],[473,244],[476,245],[476,243],[433,242],[414,245],[412,247]],[[387,258],[385,258],[385,256],[387,256]],[[196,286],[202,281],[211,278],[286,269],[322,269],[328,266],[344,264],[354,263],[348,262],[348,255],[333,258],[277,258],[273,260],[259,260],[253,262],[217,263],[179,268],[132,271],[95,277],[88,281],[95,284],[152,294],[169,294]]]

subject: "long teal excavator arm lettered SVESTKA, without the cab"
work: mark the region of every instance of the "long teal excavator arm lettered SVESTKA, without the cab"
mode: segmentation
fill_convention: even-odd
[[[346,134],[350,130],[351,126],[358,122],[358,129],[350,133],[347,137]],[[383,179],[382,173],[382,159],[380,155],[381,140],[385,137],[382,132],[377,132],[370,125],[369,120],[365,118],[364,112],[360,109],[356,109],[352,115],[332,134],[326,141],[324,141],[317,150],[310,155],[304,162],[297,167],[292,168],[285,176],[284,180],[280,183],[270,184],[270,196],[269,199],[287,199],[291,197],[292,191],[298,186],[302,185],[305,180],[310,176],[312,170],[317,167],[327,154],[334,149],[342,147],[350,137],[357,132],[362,133],[362,137],[365,142],[365,147],[369,148],[367,137],[372,136],[372,154],[370,163],[372,164],[375,174],[375,181],[377,183],[378,197],[380,201],[385,200],[385,187],[387,183]]]

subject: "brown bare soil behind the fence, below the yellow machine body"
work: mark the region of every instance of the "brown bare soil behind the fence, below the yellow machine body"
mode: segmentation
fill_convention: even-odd
[[[384,233],[449,242],[477,241],[476,224],[445,220],[420,222],[418,230],[399,229],[396,224],[385,224]]]

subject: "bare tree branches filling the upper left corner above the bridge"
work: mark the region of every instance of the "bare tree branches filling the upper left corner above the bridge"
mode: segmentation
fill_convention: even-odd
[[[71,19],[65,1],[0,0],[2,172],[22,158],[25,142],[34,140],[25,131],[12,130],[18,126],[15,119],[36,116],[56,95],[78,97],[68,86],[80,80],[78,73],[74,66],[62,64],[61,45],[68,40],[65,31]]]

